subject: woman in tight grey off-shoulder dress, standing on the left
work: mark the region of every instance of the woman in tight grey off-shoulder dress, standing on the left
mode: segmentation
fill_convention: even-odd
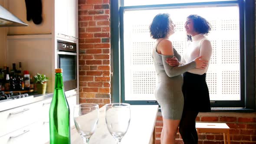
[[[194,68],[205,69],[207,66],[207,61],[200,60],[201,56],[176,67],[165,62],[165,59],[173,56],[181,59],[181,56],[173,48],[172,42],[168,39],[174,34],[174,27],[175,25],[167,13],[156,15],[149,27],[151,37],[156,39],[152,57],[158,75],[155,97],[161,106],[163,116],[161,144],[174,144],[181,120],[184,106],[183,77],[181,74]]]

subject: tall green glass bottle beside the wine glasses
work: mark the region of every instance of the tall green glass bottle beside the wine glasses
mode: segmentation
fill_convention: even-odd
[[[49,110],[50,144],[70,144],[69,104],[62,82],[62,69],[55,69],[55,89]]]

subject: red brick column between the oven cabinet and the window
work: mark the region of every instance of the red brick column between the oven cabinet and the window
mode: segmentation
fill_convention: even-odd
[[[110,103],[109,0],[79,0],[79,101]]]

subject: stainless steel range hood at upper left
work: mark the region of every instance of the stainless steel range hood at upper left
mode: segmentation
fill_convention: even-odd
[[[20,19],[0,5],[0,27],[6,26],[28,26]]]

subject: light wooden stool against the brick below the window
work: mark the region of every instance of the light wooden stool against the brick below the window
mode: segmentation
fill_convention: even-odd
[[[230,144],[230,127],[226,123],[196,123],[197,133],[223,133],[224,144]]]

